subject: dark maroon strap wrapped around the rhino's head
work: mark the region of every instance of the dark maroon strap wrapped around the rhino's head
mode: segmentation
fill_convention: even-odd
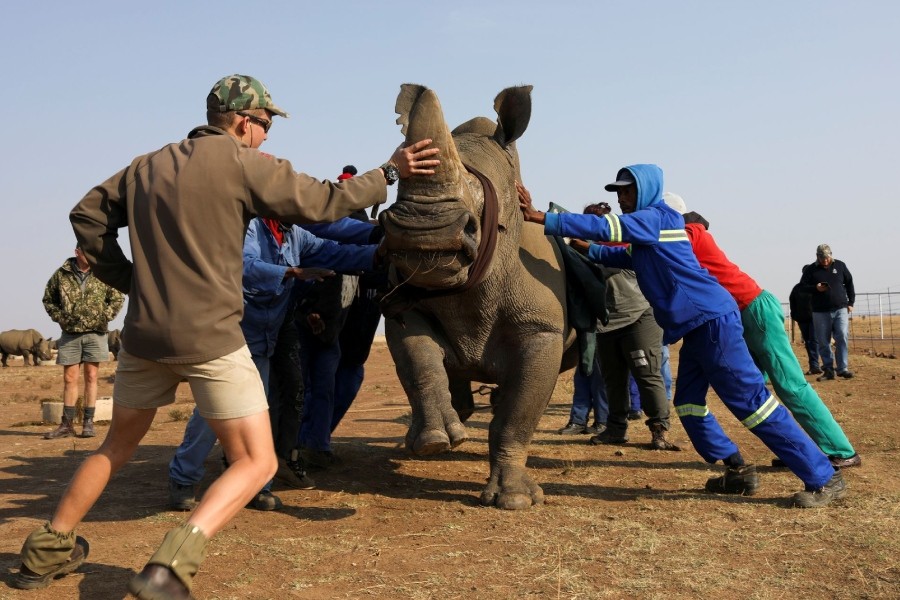
[[[426,290],[414,285],[401,282],[397,287],[389,291],[381,299],[381,312],[385,318],[397,317],[400,313],[409,310],[417,302],[429,298],[452,296],[472,289],[484,279],[494,253],[497,250],[497,230],[500,221],[500,208],[497,200],[497,191],[491,180],[469,165],[463,165],[466,170],[475,176],[484,190],[484,207],[481,211],[481,239],[478,242],[478,253],[475,262],[469,267],[469,276],[465,283],[445,290]]]

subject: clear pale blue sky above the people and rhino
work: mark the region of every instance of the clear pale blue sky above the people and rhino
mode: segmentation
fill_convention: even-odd
[[[200,124],[235,72],[291,113],[263,149],[320,179],[386,160],[404,82],[451,127],[532,84],[539,208],[612,200],[620,166],[655,162],[783,301],[823,242],[857,291],[900,289],[900,2],[36,0],[4,23],[0,330],[59,335],[41,295],[72,255],[68,211]]]

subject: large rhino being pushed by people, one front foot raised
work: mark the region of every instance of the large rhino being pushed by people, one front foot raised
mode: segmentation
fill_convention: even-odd
[[[496,384],[480,502],[508,510],[543,502],[528,450],[559,373],[578,356],[560,248],[523,221],[515,188],[531,89],[497,95],[496,122],[476,117],[451,132],[433,90],[401,86],[397,123],[407,141],[434,140],[441,164],[401,180],[379,216],[394,284],[382,301],[393,317],[385,337],[412,409],[406,447],[431,455],[465,442],[472,382]]]

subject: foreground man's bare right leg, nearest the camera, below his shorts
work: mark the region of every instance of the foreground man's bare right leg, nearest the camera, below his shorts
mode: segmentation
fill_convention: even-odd
[[[269,411],[207,422],[216,432],[230,464],[203,494],[188,523],[211,538],[275,475],[278,460]]]

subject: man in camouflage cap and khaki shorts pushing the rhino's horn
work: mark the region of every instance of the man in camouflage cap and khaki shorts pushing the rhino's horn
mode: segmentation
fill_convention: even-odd
[[[207,125],[130,161],[72,209],[69,219],[95,276],[130,298],[112,424],[52,519],[26,539],[13,586],[46,587],[81,565],[88,544],[75,527],[137,449],[157,409],[175,401],[182,380],[229,467],[187,522],[166,534],[129,591],[143,599],[190,598],[208,539],[275,474],[268,403],[240,328],[248,222],[255,215],[334,221],[384,202],[387,184],[431,175],[440,161],[426,139],[340,184],[320,181],[258,151],[274,115],[287,116],[259,81],[225,77],[207,96]],[[118,243],[123,227],[130,259]]]

